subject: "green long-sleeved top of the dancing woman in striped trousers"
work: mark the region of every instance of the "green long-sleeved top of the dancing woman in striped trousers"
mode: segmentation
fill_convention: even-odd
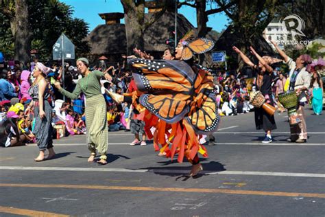
[[[101,77],[103,77],[103,73],[101,71],[92,71],[91,73],[88,73],[87,77],[78,80],[77,86],[75,86],[72,93],[64,90],[63,88],[59,89],[59,92],[72,100],[77,99],[81,92],[86,95],[86,98],[91,98],[95,95],[101,94],[99,83]]]

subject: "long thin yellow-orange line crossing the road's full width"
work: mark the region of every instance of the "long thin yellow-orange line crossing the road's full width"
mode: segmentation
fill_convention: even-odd
[[[180,187],[136,187],[136,186],[107,186],[107,185],[44,185],[44,184],[12,184],[0,183],[0,187],[53,187],[53,188],[76,188],[92,190],[125,190],[145,192],[199,192],[220,194],[246,194],[261,196],[303,196],[312,198],[325,198],[325,194],[297,193],[297,192],[263,192],[250,190],[226,190],[210,188],[180,188]]]

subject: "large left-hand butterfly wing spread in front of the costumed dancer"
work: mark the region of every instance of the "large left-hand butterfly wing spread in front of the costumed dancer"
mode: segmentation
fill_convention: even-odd
[[[139,102],[150,112],[171,124],[189,112],[196,75],[184,61],[130,59]]]

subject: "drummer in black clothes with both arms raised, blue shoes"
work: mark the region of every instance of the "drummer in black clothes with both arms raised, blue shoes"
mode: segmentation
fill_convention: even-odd
[[[253,89],[256,91],[261,91],[265,98],[265,102],[268,104],[271,104],[273,106],[274,102],[272,99],[272,73],[273,69],[270,67],[267,62],[259,56],[253,47],[250,47],[250,52],[256,56],[258,59],[258,66],[255,65],[243,52],[241,52],[240,49],[237,47],[232,47],[234,52],[239,54],[243,61],[247,64],[250,65],[253,69],[256,70],[257,76],[254,78],[254,84],[253,84]],[[273,141],[272,139],[272,130],[276,129],[276,121],[274,119],[274,115],[269,115],[263,108],[254,108],[255,112],[255,125],[256,125],[256,130],[260,130],[263,128],[265,131],[265,138],[263,139],[262,143],[268,144]]]

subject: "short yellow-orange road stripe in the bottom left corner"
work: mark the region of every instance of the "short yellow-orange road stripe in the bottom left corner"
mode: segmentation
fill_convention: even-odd
[[[43,216],[43,217],[67,217],[67,215],[55,214],[53,212],[41,212],[31,209],[19,209],[14,207],[1,207],[0,213],[16,214],[21,216]]]

